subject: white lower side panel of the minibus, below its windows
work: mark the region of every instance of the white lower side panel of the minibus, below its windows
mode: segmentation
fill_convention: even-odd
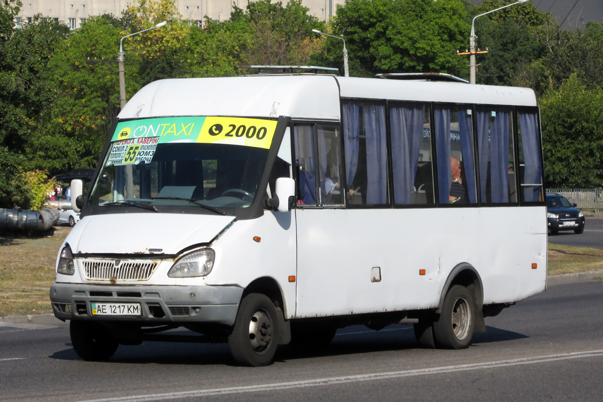
[[[450,271],[463,262],[479,272],[486,304],[522,300],[545,288],[546,219],[540,210],[296,213],[299,318],[437,307]],[[379,267],[380,281],[371,281],[373,267]]]

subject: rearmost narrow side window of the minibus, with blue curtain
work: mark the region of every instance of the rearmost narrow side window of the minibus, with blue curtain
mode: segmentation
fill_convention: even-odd
[[[543,201],[540,134],[537,111],[518,111],[519,183],[522,202]]]

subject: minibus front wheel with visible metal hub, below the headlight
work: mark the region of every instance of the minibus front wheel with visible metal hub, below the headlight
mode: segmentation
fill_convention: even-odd
[[[273,301],[265,295],[251,293],[243,298],[228,337],[230,353],[238,363],[257,367],[272,362],[279,333],[276,314]]]

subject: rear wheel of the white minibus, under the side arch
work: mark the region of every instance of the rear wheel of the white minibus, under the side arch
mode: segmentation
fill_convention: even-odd
[[[462,349],[471,344],[475,328],[475,301],[469,290],[456,284],[444,298],[437,321],[434,321],[435,342],[444,348]]]

